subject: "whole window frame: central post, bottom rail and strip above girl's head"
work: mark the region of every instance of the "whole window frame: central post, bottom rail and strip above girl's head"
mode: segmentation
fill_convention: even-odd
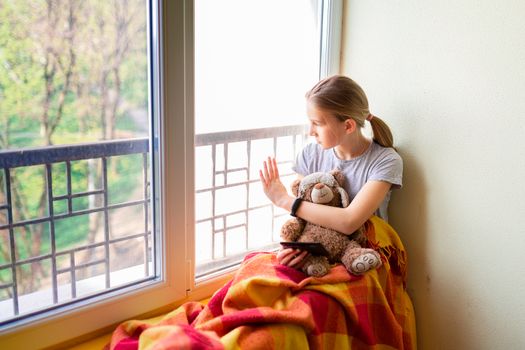
[[[339,71],[342,0],[324,0],[321,26],[320,77]],[[161,81],[154,87],[155,110],[160,113],[157,145],[163,166],[160,169],[159,200],[162,203],[160,252],[162,278],[140,290],[114,292],[103,300],[90,300],[73,309],[34,322],[0,330],[1,348],[25,349],[71,345],[111,332],[126,319],[143,318],[173,309],[187,300],[209,297],[230,277],[222,276],[195,283],[194,231],[194,77],[193,0],[152,0],[152,57]],[[329,44],[327,44],[329,43]],[[155,72],[157,73],[157,72]]]

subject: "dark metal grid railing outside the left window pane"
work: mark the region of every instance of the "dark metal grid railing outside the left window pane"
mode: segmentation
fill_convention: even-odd
[[[149,280],[152,278],[152,273],[149,266],[150,248],[152,245],[151,238],[151,229],[149,224],[149,180],[148,180],[148,154],[149,154],[149,139],[133,139],[133,140],[119,140],[119,141],[106,141],[106,142],[97,142],[91,144],[79,144],[72,146],[50,146],[43,147],[38,149],[22,149],[22,150],[13,150],[13,151],[1,151],[0,152],[0,168],[3,170],[3,179],[4,179],[4,196],[5,203],[0,203],[0,211],[4,211],[3,215],[4,222],[0,221],[0,232],[6,230],[8,232],[8,242],[9,242],[9,254],[10,261],[7,263],[0,264],[0,272],[3,270],[10,270],[11,282],[4,283],[0,285],[0,291],[9,291],[12,300],[12,314],[13,317],[9,319],[12,321],[17,319],[20,316],[27,316],[31,312],[21,312],[19,300],[20,293],[18,290],[19,278],[18,271],[19,268],[23,265],[31,263],[39,263],[43,261],[50,261],[51,264],[51,290],[52,290],[52,307],[47,309],[57,307],[59,305],[67,304],[67,302],[59,301],[59,285],[58,279],[60,275],[67,274],[70,278],[70,295],[73,301],[78,301],[81,298],[77,296],[77,271],[85,269],[91,266],[102,265],[105,281],[104,281],[104,290],[102,293],[105,293],[109,290],[123,288],[123,285],[112,288],[110,282],[110,246],[123,241],[130,241],[141,237],[144,239],[144,276],[142,279],[135,279],[130,284],[135,284],[141,281]],[[126,201],[121,203],[110,204],[108,201],[108,159],[115,156],[124,156],[140,154],[142,155],[142,194],[143,198],[139,200]],[[102,172],[101,178],[102,183],[100,188],[77,192],[74,193],[72,190],[72,170],[71,163],[76,160],[93,160],[100,159],[102,163]],[[66,169],[66,193],[61,195],[53,194],[53,164],[56,163],[65,163]],[[13,216],[13,209],[15,203],[13,203],[12,193],[12,183],[11,183],[11,171],[14,168],[18,167],[29,167],[34,165],[43,165],[45,167],[45,191],[46,191],[46,207],[47,215],[42,217],[26,219],[15,221]],[[73,201],[78,198],[89,197],[89,196],[102,196],[102,205],[97,206],[96,208],[87,208],[75,210],[73,208]],[[54,207],[55,202],[66,201],[67,209],[62,213],[55,213]],[[109,223],[109,211],[132,207],[132,206],[142,206],[143,208],[143,230],[142,232],[126,235],[124,237],[111,238],[110,237],[110,223]],[[55,235],[55,224],[58,220],[63,220],[66,218],[71,218],[80,215],[89,215],[89,214],[102,214],[103,217],[103,240],[101,242],[94,242],[91,244],[84,244],[80,247],[75,247],[71,249],[57,249],[56,246],[56,235]],[[38,256],[27,257],[23,259],[17,258],[17,251],[19,250],[16,246],[17,239],[15,237],[15,230],[17,228],[26,227],[28,225],[35,224],[46,224],[48,225],[49,230],[49,239],[50,239],[50,251],[47,254],[40,254]],[[95,260],[90,260],[84,263],[77,263],[75,260],[75,254],[82,251],[90,251],[95,248],[102,248],[104,253],[102,258]],[[66,268],[59,268],[58,261],[67,259],[69,260],[69,266]],[[94,293],[95,295],[97,293]],[[101,294],[101,293],[98,293]],[[93,296],[91,294],[90,296]],[[69,300],[71,302],[71,300]],[[5,315],[4,315],[5,317]],[[4,317],[1,317],[2,319]],[[3,320],[0,320],[3,321]],[[5,321],[4,321],[5,322]],[[1,324],[2,322],[0,322]]]

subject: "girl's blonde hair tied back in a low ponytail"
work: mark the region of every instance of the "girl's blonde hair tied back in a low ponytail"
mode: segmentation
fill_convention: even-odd
[[[353,119],[359,128],[369,120],[374,142],[383,147],[394,147],[390,128],[382,119],[371,116],[365,92],[352,79],[343,75],[323,79],[306,93],[306,99],[340,121]]]

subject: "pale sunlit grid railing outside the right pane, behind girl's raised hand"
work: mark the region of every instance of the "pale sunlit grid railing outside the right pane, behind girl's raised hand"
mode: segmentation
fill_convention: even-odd
[[[196,224],[208,224],[211,234],[211,254],[206,259],[197,260],[196,277],[211,275],[222,269],[235,266],[238,264],[246,252],[250,250],[268,250],[275,249],[277,243],[275,240],[276,219],[287,215],[287,213],[276,211],[275,207],[267,200],[252,200],[253,189],[260,186],[258,169],[262,165],[265,155],[276,155],[279,161],[280,169],[294,162],[294,157],[299,147],[301,147],[307,137],[307,128],[305,125],[293,125],[284,127],[228,131],[221,133],[210,133],[196,135],[195,146],[197,148],[210,148],[208,157],[211,158],[211,183],[202,188],[196,188],[196,194],[208,194],[208,201],[211,201],[211,210],[208,215],[200,217],[197,215]],[[264,144],[264,155],[254,155],[254,144],[256,142],[268,141]],[[230,152],[232,145],[237,147],[237,152]],[[269,146],[269,147],[268,147]],[[241,149],[239,151],[239,148]],[[285,155],[286,154],[286,155]],[[231,162],[232,158],[235,162]],[[240,160],[240,158],[243,158]],[[199,159],[197,159],[199,161]],[[230,163],[236,163],[230,166]],[[220,165],[220,166],[219,166]],[[235,175],[235,176],[233,176]],[[286,178],[294,175],[293,172],[281,172],[281,177]],[[218,181],[218,179],[220,181]],[[231,180],[230,180],[231,179]],[[224,201],[219,204],[218,193],[227,193],[228,190],[242,188],[242,194],[231,195],[228,201],[237,202],[235,208],[229,211],[222,210]],[[258,191],[262,193],[262,190]],[[227,196],[223,194],[223,197]],[[196,201],[197,214],[203,205],[202,200]],[[267,220],[271,222],[270,231],[258,230],[253,227],[255,223],[250,220],[250,213],[260,209],[268,209],[271,214]],[[237,220],[229,219],[236,217]],[[234,231],[241,231],[242,234],[236,236],[237,241],[241,241],[242,249],[234,253],[228,253],[228,248],[232,245],[232,239],[228,235]],[[266,235],[266,239],[259,242],[258,245],[250,245],[249,232],[254,231],[257,235]],[[237,242],[238,243],[238,242]],[[199,249],[202,247],[199,246]]]

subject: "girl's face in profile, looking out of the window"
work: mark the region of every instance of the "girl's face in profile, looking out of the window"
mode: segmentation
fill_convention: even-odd
[[[309,135],[324,149],[333,148],[341,143],[346,135],[346,123],[308,103],[306,113],[310,120]]]

